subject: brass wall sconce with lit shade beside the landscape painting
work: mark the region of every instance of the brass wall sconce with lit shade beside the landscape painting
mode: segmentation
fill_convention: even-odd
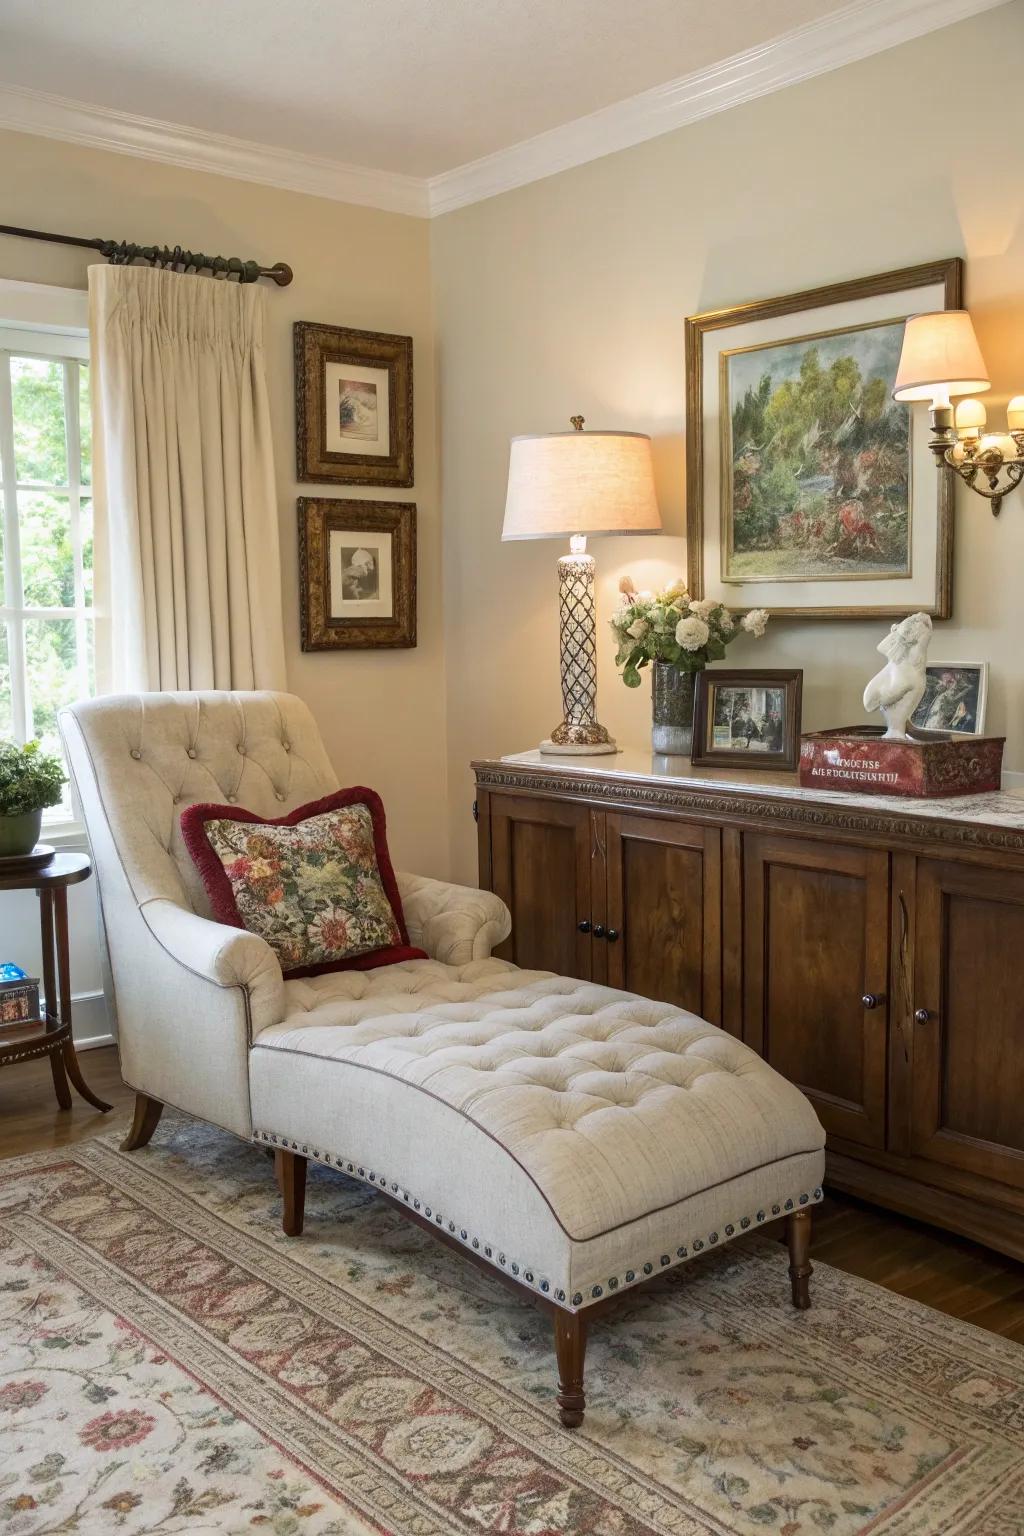
[[[892,398],[932,402],[929,449],[936,467],[956,470],[964,484],[992,502],[998,518],[1003,498],[1024,479],[1024,395],[1015,395],[1007,406],[1007,432],[984,430],[979,399],[961,399],[955,410],[950,399],[987,389],[989,370],[966,309],[910,315]]]

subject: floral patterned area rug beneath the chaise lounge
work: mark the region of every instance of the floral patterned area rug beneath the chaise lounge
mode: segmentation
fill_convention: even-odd
[[[1024,1350],[771,1235],[591,1329],[551,1324],[310,1169],[279,1232],[253,1146],[164,1118],[0,1163],[0,1531],[1021,1536]]]

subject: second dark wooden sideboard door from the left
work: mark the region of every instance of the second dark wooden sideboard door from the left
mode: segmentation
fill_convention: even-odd
[[[606,817],[608,985],[722,1014],[722,834],[652,816]]]

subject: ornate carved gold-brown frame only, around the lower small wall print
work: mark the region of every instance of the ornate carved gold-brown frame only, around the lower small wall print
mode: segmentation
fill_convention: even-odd
[[[410,501],[299,496],[299,628],[304,651],[407,650],[416,645],[416,507]],[[390,619],[330,613],[332,531],[391,535]]]

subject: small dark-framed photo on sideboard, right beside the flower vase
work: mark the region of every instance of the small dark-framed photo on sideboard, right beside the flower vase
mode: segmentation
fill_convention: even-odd
[[[695,768],[789,768],[800,762],[803,671],[711,667],[697,673]]]

